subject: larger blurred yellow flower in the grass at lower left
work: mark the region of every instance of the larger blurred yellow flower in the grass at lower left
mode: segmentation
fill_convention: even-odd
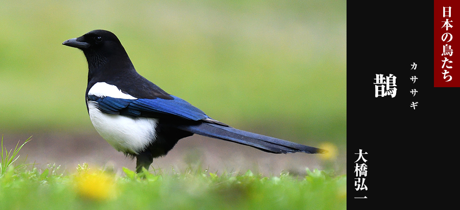
[[[103,172],[93,174],[83,172],[75,178],[75,181],[76,191],[83,198],[101,201],[115,195],[113,178]]]

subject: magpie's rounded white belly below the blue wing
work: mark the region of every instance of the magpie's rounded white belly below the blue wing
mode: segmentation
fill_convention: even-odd
[[[105,114],[95,101],[88,101],[88,111],[99,135],[118,151],[138,154],[155,140],[155,118]]]

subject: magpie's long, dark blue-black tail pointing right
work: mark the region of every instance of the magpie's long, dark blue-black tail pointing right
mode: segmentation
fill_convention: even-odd
[[[203,122],[198,125],[183,125],[178,127],[181,130],[188,132],[231,141],[238,144],[248,145],[266,152],[271,153],[325,153],[327,150],[315,147],[305,146],[294,142],[285,141],[273,137],[263,136],[239,130],[233,127]]]

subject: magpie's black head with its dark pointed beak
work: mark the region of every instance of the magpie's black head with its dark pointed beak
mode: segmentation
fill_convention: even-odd
[[[101,69],[107,63],[127,66],[128,68],[132,66],[120,40],[109,31],[90,31],[81,37],[68,39],[62,44],[76,47],[83,51],[88,61],[90,74],[97,71],[97,69]]]

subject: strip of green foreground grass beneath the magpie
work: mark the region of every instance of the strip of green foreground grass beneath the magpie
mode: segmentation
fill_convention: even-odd
[[[14,160],[20,148],[7,156]],[[117,174],[87,164],[75,171],[9,164],[0,175],[0,203],[2,209],[346,209],[346,175],[308,168],[306,173],[218,175],[187,168],[136,174],[123,168]]]

